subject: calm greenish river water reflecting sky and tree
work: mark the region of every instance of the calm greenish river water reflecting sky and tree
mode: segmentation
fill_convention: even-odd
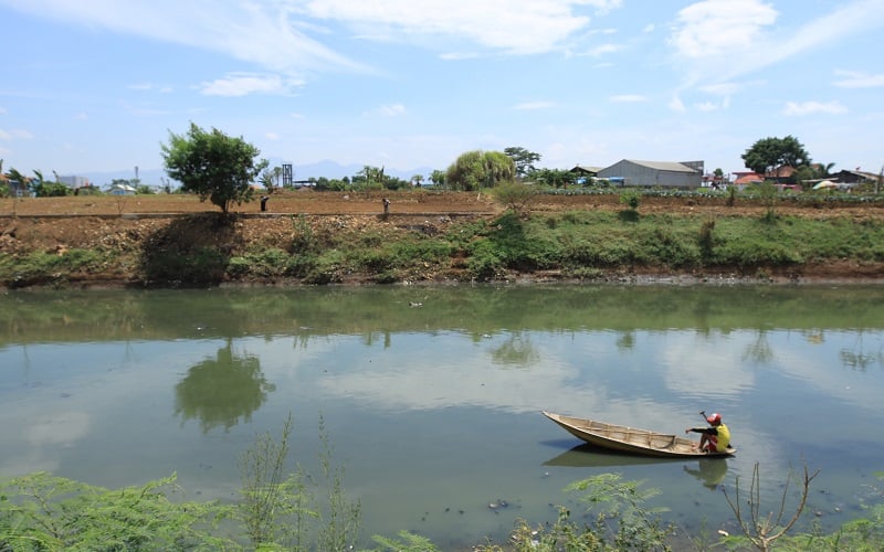
[[[120,487],[178,474],[238,496],[240,455],[294,421],[318,471],[320,423],[371,534],[443,549],[517,518],[582,512],[570,482],[617,473],[688,532],[735,531],[722,487],[762,511],[814,479],[806,527],[882,500],[884,287],[367,287],[0,296],[0,477]],[[540,412],[681,434],[719,412],[739,453],[600,454]],[[793,503],[796,486],[787,491]],[[490,508],[505,502],[505,508]]]

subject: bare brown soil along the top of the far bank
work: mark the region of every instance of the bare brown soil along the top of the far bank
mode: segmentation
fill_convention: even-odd
[[[389,215],[383,216],[382,199],[390,200]],[[491,217],[502,212],[485,193],[467,192],[316,192],[309,189],[274,193],[260,210],[260,202],[234,205],[236,233],[241,244],[267,243],[292,233],[292,215],[309,216],[314,225],[326,227],[370,229],[377,225],[421,224],[431,231],[444,230],[454,219]],[[533,212],[570,210],[620,211],[618,194],[539,195]],[[738,200],[727,205],[724,199],[650,198],[641,200],[640,212],[701,216],[761,216],[767,206]],[[884,220],[884,208],[862,203],[780,202],[777,213],[813,219],[849,217],[854,221]],[[119,247],[134,250],[182,215],[219,213],[209,202],[193,195],[69,197],[0,199],[0,253],[45,251],[63,253],[69,248]],[[206,236],[211,243],[211,236]],[[130,275],[118,268],[107,280],[127,282]],[[884,264],[857,265],[848,261],[829,262],[802,269],[804,280],[884,279]],[[105,282],[107,283],[107,282]]]

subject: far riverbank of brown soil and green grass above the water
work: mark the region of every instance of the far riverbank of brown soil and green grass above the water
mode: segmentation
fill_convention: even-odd
[[[391,209],[382,212],[382,198]],[[187,195],[2,200],[0,286],[593,282],[876,283],[884,209],[860,202],[286,192],[222,216]]]

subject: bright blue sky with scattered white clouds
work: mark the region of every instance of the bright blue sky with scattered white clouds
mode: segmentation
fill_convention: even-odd
[[[507,147],[730,173],[788,135],[884,164],[884,0],[0,0],[0,159],[27,176],[161,169],[190,123],[296,178]]]

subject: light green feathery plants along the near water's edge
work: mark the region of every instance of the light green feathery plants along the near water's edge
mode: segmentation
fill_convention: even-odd
[[[344,470],[332,464],[332,448],[320,422],[323,477],[315,482],[302,468],[288,471],[291,416],[280,439],[259,435],[240,458],[242,499],[236,505],[194,502],[181,492],[175,475],[141,487],[108,490],[50,474],[38,473],[0,481],[0,550],[357,550],[360,505],[346,498]],[[884,475],[878,474],[878,479]],[[687,535],[691,548],[708,550],[881,550],[884,545],[884,505],[860,505],[864,518],[832,533],[814,527],[810,533],[787,535],[801,517],[815,477],[807,468],[796,499],[785,485],[779,510],[762,514],[760,477],[756,464],[749,492],[740,495],[739,479],[730,505],[745,535]],[[664,523],[665,508],[649,507],[656,489],[642,481],[623,481],[601,474],[569,485],[586,507],[580,519],[558,508],[554,523],[532,526],[519,520],[506,545],[488,542],[482,552],[561,550],[674,550],[676,527]],[[791,498],[790,498],[791,497]],[[787,508],[793,506],[793,513]],[[766,510],[765,510],[766,511]],[[786,517],[788,519],[786,519]],[[430,540],[408,531],[394,538],[375,535],[376,551],[436,551]],[[685,548],[687,542],[681,542]]]

